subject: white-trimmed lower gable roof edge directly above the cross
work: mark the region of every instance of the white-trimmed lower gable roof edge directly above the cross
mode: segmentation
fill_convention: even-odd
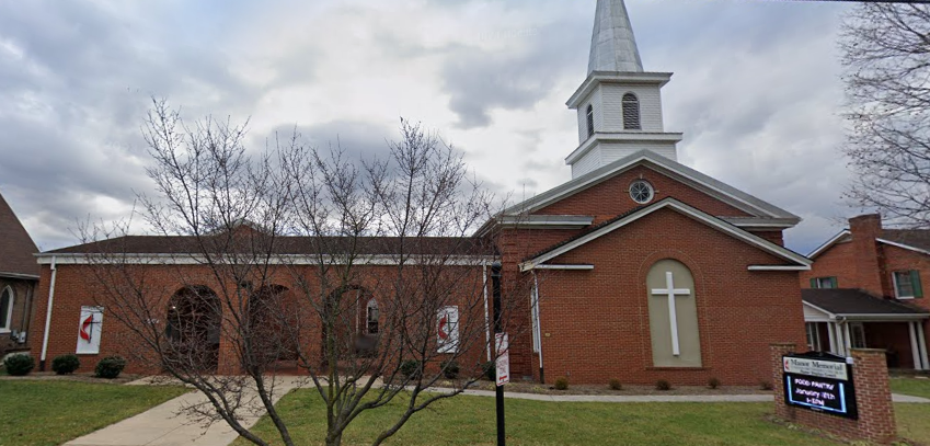
[[[520,263],[520,270],[521,271],[532,270],[543,262],[547,262],[547,261],[552,260],[552,259],[554,259],[559,255],[562,255],[562,254],[564,254],[569,251],[572,251],[575,248],[578,248],[578,247],[581,247],[581,245],[583,245],[587,242],[594,241],[601,236],[608,235],[608,233],[610,233],[610,232],[612,232],[612,231],[615,231],[619,228],[622,228],[623,226],[627,226],[627,225],[629,225],[633,221],[636,221],[640,218],[643,218],[643,217],[645,217],[645,216],[647,216],[647,215],[650,215],[650,214],[652,214],[656,210],[665,209],[665,208],[678,211],[679,214],[682,214],[687,217],[690,217],[694,220],[698,220],[698,221],[700,221],[700,222],[702,222],[707,226],[710,226],[710,227],[712,227],[716,230],[720,230],[721,232],[724,232],[724,233],[726,233],[726,235],[728,235],[728,236],[731,236],[735,239],[738,239],[738,240],[744,241],[748,244],[755,245],[756,248],[761,249],[762,251],[766,251],[766,252],[768,252],[768,253],[770,253],[774,256],[784,259],[784,260],[787,260],[788,262],[791,263],[789,265],[772,265],[772,266],[763,265],[763,266],[757,266],[755,268],[753,266],[750,266],[750,268],[754,268],[754,270],[766,270],[766,268],[771,268],[771,270],[810,270],[811,268],[812,262],[811,262],[810,259],[807,259],[807,258],[805,258],[805,256],[803,256],[803,255],[801,255],[801,254],[799,254],[794,251],[791,251],[787,248],[783,248],[783,247],[780,247],[776,243],[772,243],[772,242],[770,242],[766,239],[762,239],[761,237],[753,235],[753,233],[750,233],[746,230],[743,230],[743,229],[740,229],[740,228],[738,228],[734,225],[731,225],[731,224],[728,224],[728,222],[726,222],[726,221],[724,221],[724,220],[722,220],[717,217],[711,216],[711,215],[709,215],[704,211],[701,211],[701,210],[699,210],[694,207],[691,207],[689,205],[686,205],[685,203],[681,203],[681,202],[679,202],[675,198],[669,197],[669,198],[664,198],[662,201],[653,203],[651,205],[641,206],[641,207],[631,209],[627,213],[620,214],[617,217],[613,217],[613,218],[611,218],[607,221],[604,221],[602,224],[597,225],[596,227],[590,228],[589,230],[587,230],[585,232],[582,232],[581,235],[577,235],[575,237],[566,239],[566,240],[564,240],[560,243],[552,245],[552,247],[549,247],[546,250],[542,250],[542,251],[531,255],[530,258],[526,259],[523,263]]]

